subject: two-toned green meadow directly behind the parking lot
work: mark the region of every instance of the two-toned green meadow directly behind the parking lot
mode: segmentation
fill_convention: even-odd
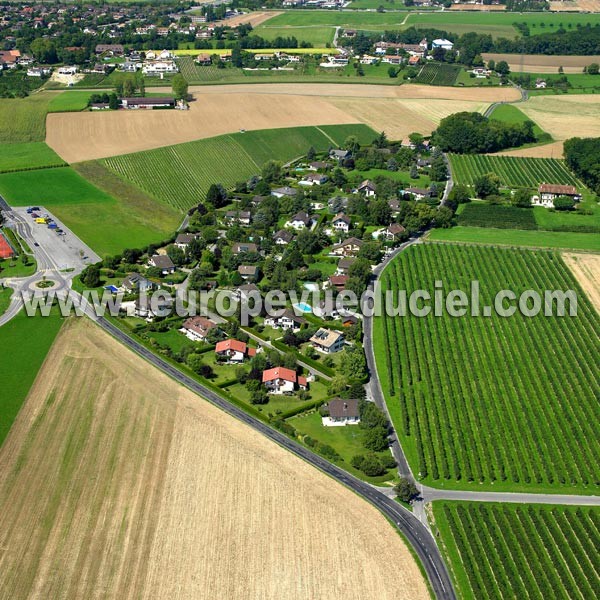
[[[101,167],[94,172],[102,185],[130,189]],[[143,202],[135,196],[143,196],[138,190],[131,197],[116,196],[119,201],[113,189],[103,191],[70,167],[0,175],[0,194],[9,203],[45,206],[101,256],[161,241],[176,228],[179,219],[168,207],[148,198]]]

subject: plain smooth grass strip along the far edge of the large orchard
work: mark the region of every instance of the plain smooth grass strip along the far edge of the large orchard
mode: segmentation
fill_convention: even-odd
[[[501,246],[530,246],[533,248],[566,248],[600,252],[600,236],[593,233],[562,231],[522,231],[519,229],[491,229],[482,227],[452,227],[434,229],[429,240],[493,244]]]

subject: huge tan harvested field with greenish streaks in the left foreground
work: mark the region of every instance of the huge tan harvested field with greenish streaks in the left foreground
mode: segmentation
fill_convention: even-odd
[[[428,598],[374,508],[94,324],[0,450],[0,597]]]

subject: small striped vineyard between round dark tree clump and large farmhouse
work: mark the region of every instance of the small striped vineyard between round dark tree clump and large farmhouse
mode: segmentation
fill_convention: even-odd
[[[452,175],[456,183],[473,185],[486,173],[495,173],[507,187],[536,188],[540,183],[580,187],[581,183],[555,158],[522,158],[488,154],[450,154]]]

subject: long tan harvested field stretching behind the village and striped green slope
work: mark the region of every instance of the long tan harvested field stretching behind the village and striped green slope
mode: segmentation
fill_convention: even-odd
[[[409,133],[418,130],[420,121],[411,125],[413,113],[404,113],[394,107],[397,99],[418,99],[418,104],[423,106],[428,99],[447,100],[454,101],[448,107],[460,107],[465,102],[476,102],[480,106],[520,97],[513,88],[462,89],[419,85],[246,84],[192,87],[190,91],[196,100],[188,111],[50,114],[46,121],[46,142],[67,162],[80,162],[191,142],[240,129],[368,123],[361,121],[366,118],[363,115],[380,110],[384,106],[380,100],[385,98],[391,101],[387,109],[390,115],[404,118],[405,124],[392,126],[382,113],[378,122],[383,126],[379,128],[391,135],[391,129],[396,127],[404,134],[407,127]],[[338,102],[343,98],[357,99],[358,102],[344,107]],[[369,106],[371,100],[374,100],[374,108]],[[439,103],[439,106],[443,104]],[[422,113],[425,109],[420,110]],[[440,109],[436,110],[439,112]],[[434,124],[426,118],[422,132],[429,133]]]

